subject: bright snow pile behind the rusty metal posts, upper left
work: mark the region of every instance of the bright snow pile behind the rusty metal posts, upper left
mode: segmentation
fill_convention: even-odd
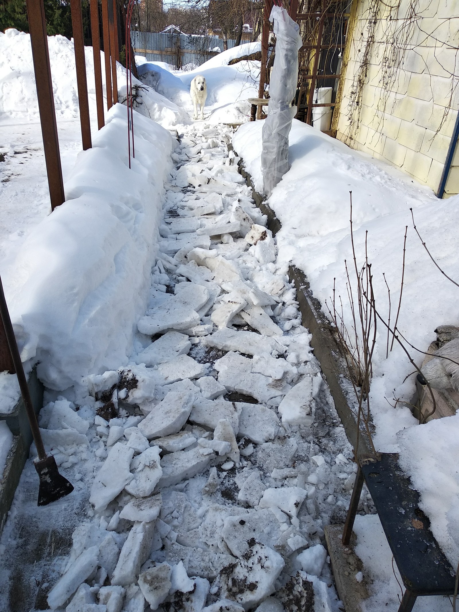
[[[79,108],[73,40],[61,35],[48,36],[48,48],[56,116],[62,119],[77,117]],[[84,54],[90,111],[92,116],[95,116],[92,47],[85,47]],[[100,54],[100,60],[103,91],[106,97],[103,52]],[[126,70],[121,64],[117,64],[116,73],[119,97],[122,99],[126,94]],[[141,83],[133,78],[133,85],[140,86]],[[144,87],[140,94],[142,103],[137,110],[142,114],[154,119],[164,127],[170,127],[179,122],[188,123],[189,119],[181,109],[154,90]],[[15,29],[7,29],[4,34],[0,32],[0,118],[36,119],[38,116],[30,35]]]

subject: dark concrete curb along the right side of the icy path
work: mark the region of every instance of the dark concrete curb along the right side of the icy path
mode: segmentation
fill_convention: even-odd
[[[273,236],[282,228],[271,207],[264,201],[264,196],[255,190],[252,177],[244,170],[243,160],[239,161],[239,172],[245,178],[247,186],[252,189],[252,197],[256,206],[267,215],[267,227]],[[330,332],[330,322],[325,316],[322,306],[310,289],[309,281],[299,268],[289,266],[288,275],[296,288],[296,299],[299,302],[302,324],[312,334],[311,346],[319,361],[324,377],[335,402],[335,408],[340,416],[346,436],[353,448],[357,446],[356,398],[351,382],[348,379],[345,360],[341,357],[338,345]],[[354,409],[351,409],[351,406]],[[367,435],[360,429],[359,456],[370,454],[370,444]]]

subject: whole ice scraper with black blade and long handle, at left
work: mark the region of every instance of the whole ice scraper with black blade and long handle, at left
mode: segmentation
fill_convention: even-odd
[[[3,321],[5,335],[10,348],[10,354],[13,361],[18,383],[21,389],[21,394],[26,406],[27,416],[29,419],[32,436],[34,436],[35,446],[37,447],[38,457],[34,460],[35,469],[40,479],[38,506],[47,506],[57,499],[61,499],[72,493],[73,485],[59,474],[58,466],[53,455],[47,455],[43,446],[42,436],[35,416],[34,406],[29,393],[26,375],[22,367],[21,357],[19,354],[18,345],[11,324],[10,315],[6,305],[5,294],[3,293],[2,280],[0,278],[0,315]]]

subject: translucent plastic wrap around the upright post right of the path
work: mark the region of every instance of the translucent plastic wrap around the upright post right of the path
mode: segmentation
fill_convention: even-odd
[[[292,100],[298,81],[298,51],[303,44],[298,24],[285,9],[272,7],[269,20],[274,21],[276,48],[269,83],[268,114],[262,132],[261,168],[267,197],[289,169],[288,135],[296,114]]]

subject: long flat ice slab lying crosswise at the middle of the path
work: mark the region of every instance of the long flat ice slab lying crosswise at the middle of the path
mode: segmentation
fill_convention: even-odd
[[[219,329],[203,340],[206,346],[214,346],[223,351],[239,351],[246,355],[261,355],[263,353],[282,354],[285,348],[273,337],[267,337],[255,332],[237,331],[236,329]]]

